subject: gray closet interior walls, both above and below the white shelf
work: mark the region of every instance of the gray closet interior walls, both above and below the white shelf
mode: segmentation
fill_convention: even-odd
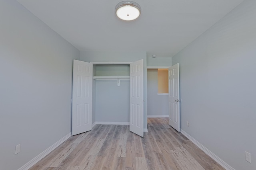
[[[120,80],[119,86],[117,78],[107,79],[129,74],[129,64],[93,65],[93,76],[102,76],[103,80],[93,80],[92,123],[129,123],[129,79]]]

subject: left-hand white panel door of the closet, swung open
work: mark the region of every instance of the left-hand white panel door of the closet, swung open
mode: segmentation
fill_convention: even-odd
[[[72,135],[92,130],[92,63],[74,60]]]

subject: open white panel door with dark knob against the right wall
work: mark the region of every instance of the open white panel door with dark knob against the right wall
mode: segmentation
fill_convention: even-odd
[[[169,76],[169,125],[180,131],[179,63],[168,69]]]

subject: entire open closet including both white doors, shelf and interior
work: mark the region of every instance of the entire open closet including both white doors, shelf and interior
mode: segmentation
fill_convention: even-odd
[[[90,131],[96,124],[127,124],[130,131],[143,137],[143,80],[143,60],[74,60],[72,135]]]

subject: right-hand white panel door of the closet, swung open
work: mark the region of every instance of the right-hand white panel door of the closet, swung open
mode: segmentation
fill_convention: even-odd
[[[143,60],[130,64],[130,131],[144,136]]]

